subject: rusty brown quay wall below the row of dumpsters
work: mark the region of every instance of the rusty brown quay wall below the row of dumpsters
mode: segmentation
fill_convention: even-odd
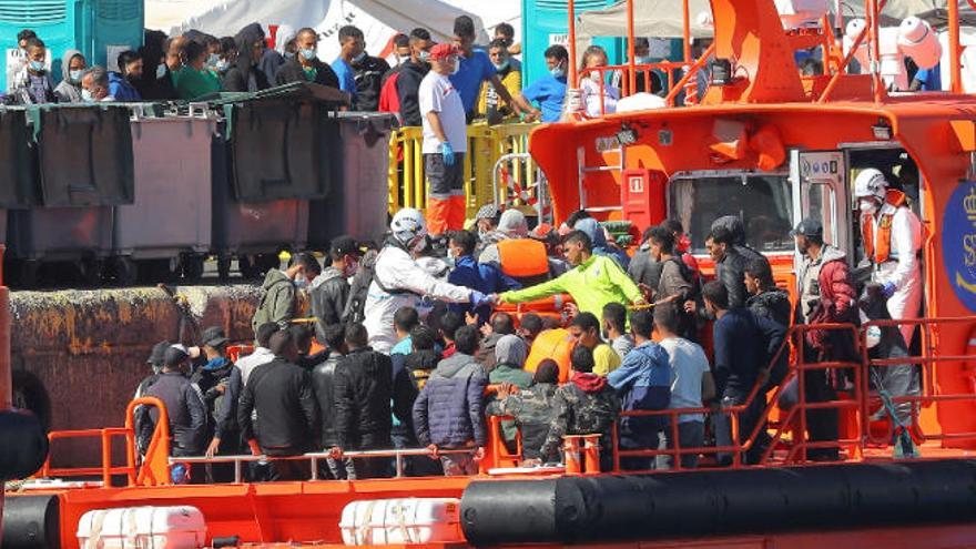
[[[257,286],[180,287],[177,293],[200,326],[223,326],[233,340],[253,338]],[[14,392],[26,385],[42,389],[50,428],[58,430],[122,425],[125,405],[151,373],[152,346],[175,342],[181,317],[173,299],[155,287],[12,292],[10,315]],[[96,441],[64,441],[52,450],[55,467],[100,462]],[[121,445],[114,455],[121,462]]]

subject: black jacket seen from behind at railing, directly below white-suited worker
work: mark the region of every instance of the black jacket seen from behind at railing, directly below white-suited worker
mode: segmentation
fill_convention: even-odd
[[[392,446],[393,363],[366,347],[343,357],[335,370],[335,430],[340,448]]]

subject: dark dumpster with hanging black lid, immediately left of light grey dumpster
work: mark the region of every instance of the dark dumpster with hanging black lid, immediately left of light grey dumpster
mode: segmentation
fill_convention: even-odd
[[[40,194],[11,211],[8,243],[22,285],[41,262],[70,261],[98,283],[112,250],[112,206],[133,200],[132,138],[122,105],[26,108],[33,131]]]

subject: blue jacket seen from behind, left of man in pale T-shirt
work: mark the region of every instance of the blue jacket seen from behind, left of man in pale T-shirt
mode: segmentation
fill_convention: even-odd
[[[607,376],[621,395],[623,411],[662,410],[671,404],[671,362],[664,347],[645,342],[623,358],[623,364]],[[623,417],[621,434],[647,435],[668,425],[667,416]]]

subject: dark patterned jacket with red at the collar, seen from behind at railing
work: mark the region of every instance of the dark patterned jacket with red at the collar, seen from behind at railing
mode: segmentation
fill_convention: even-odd
[[[548,458],[561,457],[565,435],[599,433],[600,446],[609,448],[613,423],[620,413],[620,397],[607,385],[594,393],[587,393],[572,382],[556,389],[552,397],[553,417],[541,454]],[[561,460],[561,459],[560,459]]]

